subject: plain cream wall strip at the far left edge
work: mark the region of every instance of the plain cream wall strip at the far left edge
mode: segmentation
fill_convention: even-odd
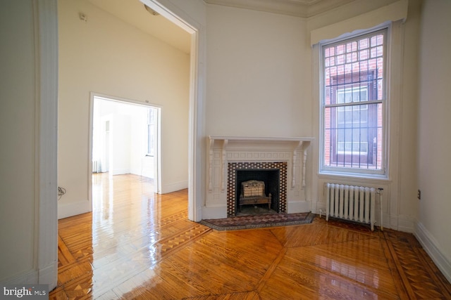
[[[32,1],[2,4],[0,14],[0,27],[11,28],[0,36],[0,282],[4,282],[34,268],[38,99]]]

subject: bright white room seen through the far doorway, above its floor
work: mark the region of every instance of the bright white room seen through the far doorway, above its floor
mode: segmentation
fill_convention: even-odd
[[[92,173],[141,176],[160,193],[160,122],[156,105],[93,94]]]

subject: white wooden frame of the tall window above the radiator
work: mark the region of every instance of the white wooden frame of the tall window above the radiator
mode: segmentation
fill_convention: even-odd
[[[348,44],[352,41],[359,41],[360,39],[364,39],[365,37],[372,37],[374,35],[377,35],[379,33],[383,33],[383,78],[381,80],[382,83],[382,95],[381,99],[378,99],[376,97],[376,100],[366,100],[364,101],[368,105],[382,105],[381,114],[382,114],[382,121],[381,121],[381,168],[380,169],[364,169],[364,168],[353,168],[353,167],[337,167],[337,166],[331,166],[326,165],[326,108],[327,107],[348,107],[348,106],[341,106],[340,104],[330,104],[326,105],[326,67],[325,67],[325,58],[326,58],[326,48],[330,48],[334,45],[340,45],[340,44]],[[384,25],[380,27],[375,27],[371,30],[366,31],[360,31],[357,34],[345,34],[342,37],[338,37],[337,39],[331,39],[328,41],[322,41],[319,43],[319,77],[320,77],[320,85],[319,85],[319,137],[320,137],[320,151],[319,151],[319,174],[329,174],[329,175],[344,175],[344,176],[359,176],[364,178],[388,178],[388,171],[387,171],[387,161],[388,161],[388,107],[389,107],[389,86],[388,86],[388,77],[390,73],[389,69],[389,58],[388,58],[388,52],[390,49],[390,26]],[[359,50],[357,50],[358,52]],[[361,60],[357,60],[361,61]],[[369,71],[369,70],[368,70]],[[352,72],[350,73],[352,76]],[[377,84],[377,78],[376,78],[376,84]],[[348,86],[344,86],[345,89],[348,88]],[[350,89],[354,89],[352,86]],[[335,91],[335,93],[338,94],[339,89]],[[368,93],[368,91],[366,91]],[[338,96],[338,95],[337,95]],[[360,103],[362,101],[358,101]],[[352,106],[350,106],[352,107]],[[377,107],[377,106],[376,106]],[[338,122],[338,108],[337,112],[335,112],[337,115],[335,116],[335,122]],[[377,108],[376,108],[377,109]],[[343,111],[345,111],[346,108],[344,108]],[[354,142],[354,141],[352,141]],[[337,144],[338,145],[338,144]],[[368,149],[367,145],[367,151]],[[338,147],[337,147],[338,149]],[[346,149],[346,147],[345,147]],[[345,154],[346,150],[344,150]],[[359,153],[361,151],[359,150]],[[353,153],[354,154],[354,153]]]

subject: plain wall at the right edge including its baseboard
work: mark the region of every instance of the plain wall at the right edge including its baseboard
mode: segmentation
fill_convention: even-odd
[[[416,235],[451,281],[451,2],[424,1],[418,110],[419,217]]]

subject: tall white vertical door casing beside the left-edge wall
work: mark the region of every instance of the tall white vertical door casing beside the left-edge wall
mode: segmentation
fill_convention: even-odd
[[[38,0],[39,193],[37,214],[37,283],[54,289],[58,278],[57,128],[58,10],[56,0]],[[35,25],[36,26],[36,25]]]

